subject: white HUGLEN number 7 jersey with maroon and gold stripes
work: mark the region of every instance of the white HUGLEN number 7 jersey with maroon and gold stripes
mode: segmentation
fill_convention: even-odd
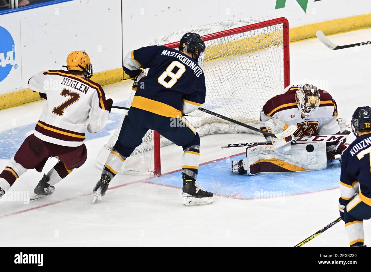
[[[101,85],[69,71],[49,70],[28,81],[33,91],[47,95],[35,136],[53,144],[77,147],[85,142],[86,129],[95,133],[108,121]]]

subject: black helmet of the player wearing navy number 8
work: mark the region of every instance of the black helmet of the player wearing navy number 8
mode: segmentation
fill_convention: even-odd
[[[181,52],[191,53],[192,58],[201,65],[205,56],[205,48],[205,43],[200,35],[188,32],[181,38],[178,49]]]

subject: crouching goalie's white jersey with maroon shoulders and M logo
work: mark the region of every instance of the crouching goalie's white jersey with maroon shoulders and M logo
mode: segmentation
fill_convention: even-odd
[[[265,121],[277,118],[288,125],[296,125],[298,129],[294,133],[295,137],[340,132],[336,102],[327,91],[319,90],[318,109],[308,117],[302,118],[295,101],[295,92],[300,87],[301,85],[289,85],[283,94],[276,95],[267,101],[260,112],[260,129],[266,131]]]

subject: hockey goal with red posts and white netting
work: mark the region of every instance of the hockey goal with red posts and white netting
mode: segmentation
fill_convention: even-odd
[[[180,38],[187,32],[200,34],[206,44],[201,66],[206,79],[206,101],[202,107],[258,127],[262,106],[290,84],[287,19],[264,16],[207,24],[156,37],[144,46],[177,48]],[[127,107],[130,107],[134,94],[133,91]],[[98,167],[104,166],[126,114],[124,112],[116,131],[99,152]],[[201,111],[187,119],[200,137],[214,133],[253,132]],[[148,131],[120,173],[159,175],[160,148],[168,144],[171,142],[157,132]]]

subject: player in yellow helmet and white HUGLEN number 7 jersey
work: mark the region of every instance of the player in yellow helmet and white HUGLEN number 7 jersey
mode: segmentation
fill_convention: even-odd
[[[95,133],[105,127],[112,100],[106,100],[101,85],[90,80],[88,54],[72,51],[67,69],[40,72],[28,81],[29,88],[47,101],[35,131],[0,174],[0,197],[28,169],[41,172],[49,157],[57,157],[58,163],[34,190],[35,198],[52,194],[56,183],[86,161],[85,131]]]

